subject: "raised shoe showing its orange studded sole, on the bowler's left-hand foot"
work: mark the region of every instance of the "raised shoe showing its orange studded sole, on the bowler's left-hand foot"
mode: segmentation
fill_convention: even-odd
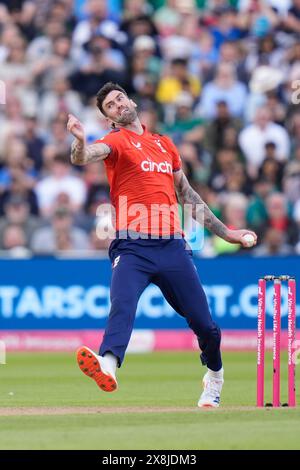
[[[105,357],[98,356],[90,348],[82,346],[77,350],[77,363],[80,370],[91,377],[104,392],[114,392],[118,388],[116,377],[107,370]]]

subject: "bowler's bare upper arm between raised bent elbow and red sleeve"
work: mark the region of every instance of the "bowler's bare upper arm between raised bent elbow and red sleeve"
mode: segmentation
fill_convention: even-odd
[[[104,160],[109,152],[110,148],[106,144],[85,145],[84,142],[76,139],[71,146],[71,162],[74,165],[86,165]]]

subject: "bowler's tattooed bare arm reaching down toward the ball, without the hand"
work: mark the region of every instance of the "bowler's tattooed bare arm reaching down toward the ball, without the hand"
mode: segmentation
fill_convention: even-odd
[[[179,202],[182,205],[192,204],[193,218],[196,219],[197,213],[199,211],[204,211],[204,226],[212,233],[215,233],[219,237],[226,240],[228,237],[227,227],[212,213],[210,208],[207,206],[207,204],[205,204],[199,194],[197,194],[196,191],[190,186],[185,174],[182,171],[180,171],[180,173],[175,176],[175,186]]]

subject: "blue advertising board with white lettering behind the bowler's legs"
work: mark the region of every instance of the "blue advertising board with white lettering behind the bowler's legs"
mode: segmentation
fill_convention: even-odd
[[[195,258],[195,264],[207,293],[213,317],[222,329],[234,330],[256,328],[258,278],[271,273],[294,275],[300,280],[299,260],[299,257],[232,256],[213,259]],[[104,328],[110,306],[110,276],[111,266],[108,259],[2,259],[0,260],[1,329]],[[283,285],[284,327],[287,315],[286,294],[287,287]],[[269,327],[272,320],[272,295],[273,286],[270,283],[266,297]],[[298,305],[298,316],[299,307]],[[158,287],[150,285],[139,301],[135,328],[182,329],[185,326],[185,320],[172,310]]]

